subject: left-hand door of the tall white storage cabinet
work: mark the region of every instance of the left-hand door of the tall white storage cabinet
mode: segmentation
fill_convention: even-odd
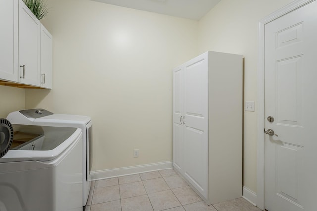
[[[173,70],[173,167],[183,171],[183,93],[182,66]]]

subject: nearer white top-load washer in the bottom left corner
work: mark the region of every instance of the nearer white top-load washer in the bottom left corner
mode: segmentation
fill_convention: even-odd
[[[0,211],[82,211],[81,129],[13,124],[13,131],[0,158]]]

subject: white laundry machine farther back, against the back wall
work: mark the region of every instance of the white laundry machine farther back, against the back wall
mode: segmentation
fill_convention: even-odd
[[[53,114],[44,109],[29,109],[11,112],[7,119],[12,124],[28,124],[54,127],[74,127],[82,130],[83,143],[83,197],[82,206],[87,203],[91,186],[90,172],[92,167],[92,120],[88,116]]]

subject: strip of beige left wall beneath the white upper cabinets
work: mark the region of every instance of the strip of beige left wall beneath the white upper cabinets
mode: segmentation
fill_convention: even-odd
[[[0,85],[0,118],[25,107],[25,89]]]

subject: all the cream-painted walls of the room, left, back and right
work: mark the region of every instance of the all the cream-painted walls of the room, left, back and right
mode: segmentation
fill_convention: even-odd
[[[222,0],[196,22],[89,0],[49,0],[41,22],[54,39],[53,89],[0,86],[0,117],[34,107],[91,116],[94,170],[170,161],[171,69],[207,50],[242,54],[244,98],[256,102],[244,116],[243,183],[256,191],[258,21],[291,1]]]

